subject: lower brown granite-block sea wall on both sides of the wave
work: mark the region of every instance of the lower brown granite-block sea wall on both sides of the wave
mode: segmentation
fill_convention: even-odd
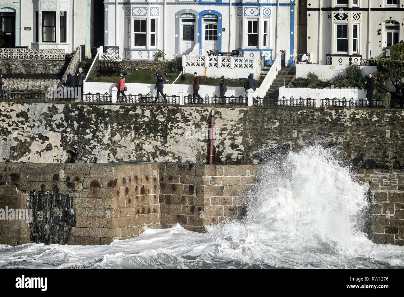
[[[245,215],[263,171],[263,165],[0,163],[0,244],[109,244],[175,223],[203,232]],[[360,169],[356,178],[370,182],[369,238],[404,245],[404,170]],[[1,217],[6,207],[29,209],[31,219]]]

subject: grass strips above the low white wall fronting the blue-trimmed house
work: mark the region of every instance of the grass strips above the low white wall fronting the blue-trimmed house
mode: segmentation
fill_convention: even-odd
[[[128,74],[125,76],[126,83],[138,83],[138,84],[155,84],[156,83],[156,71],[145,69],[145,70],[137,70],[132,74]],[[246,74],[247,77],[247,74]],[[176,84],[194,84],[194,74],[184,74],[182,75]],[[89,78],[88,82],[118,82],[119,76],[93,76]],[[170,78],[170,82],[172,83],[175,78]],[[257,88],[261,85],[262,78],[260,77],[257,80]],[[212,78],[206,76],[199,76],[199,84],[201,85],[210,85],[210,86],[219,86],[220,78]],[[234,82],[234,79],[226,79],[227,86],[244,86],[243,82]]]

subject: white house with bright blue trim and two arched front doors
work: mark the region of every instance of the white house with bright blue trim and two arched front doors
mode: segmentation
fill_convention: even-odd
[[[295,0],[105,0],[105,38],[125,59],[154,60],[206,51],[240,51],[271,64],[280,50],[295,59]]]

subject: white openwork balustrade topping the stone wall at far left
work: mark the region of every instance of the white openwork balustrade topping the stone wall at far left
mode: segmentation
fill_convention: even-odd
[[[0,48],[0,59],[65,60],[64,48]]]

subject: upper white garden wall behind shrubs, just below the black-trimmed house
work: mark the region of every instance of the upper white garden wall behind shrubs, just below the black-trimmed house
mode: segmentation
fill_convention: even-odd
[[[335,69],[331,69],[331,66],[335,66]],[[343,72],[347,65],[316,65],[316,64],[297,64],[296,65],[296,77],[307,76],[307,73],[314,72],[321,80],[330,80],[333,75],[337,75]],[[362,66],[363,73],[369,74],[371,72],[377,72],[376,66]]]

